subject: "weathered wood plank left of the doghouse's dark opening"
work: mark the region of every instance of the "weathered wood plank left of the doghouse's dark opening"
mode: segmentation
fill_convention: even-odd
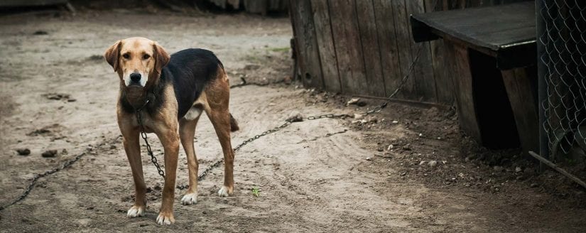
[[[460,129],[465,131],[468,136],[472,136],[472,138],[482,142],[476,109],[474,109],[472,73],[470,72],[468,50],[463,46],[454,45],[449,41],[445,41],[444,45],[448,59],[453,60],[452,71],[454,75],[452,75],[452,83]]]

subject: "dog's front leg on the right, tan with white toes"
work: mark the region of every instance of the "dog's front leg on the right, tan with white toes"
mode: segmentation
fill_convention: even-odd
[[[162,128],[162,129],[161,129]],[[158,224],[172,224],[173,201],[175,200],[175,177],[179,154],[179,134],[177,124],[161,127],[156,132],[165,150],[165,185],[163,187],[163,203],[157,217]]]

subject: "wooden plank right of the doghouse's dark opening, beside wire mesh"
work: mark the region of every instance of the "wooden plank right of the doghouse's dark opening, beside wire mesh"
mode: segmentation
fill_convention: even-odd
[[[535,69],[535,67],[531,68]],[[516,68],[501,71],[506,93],[509,95],[513,109],[517,131],[519,131],[521,148],[525,154],[539,148],[537,102],[532,88],[536,85],[531,82],[531,79],[536,79],[536,77],[530,77],[527,69]]]

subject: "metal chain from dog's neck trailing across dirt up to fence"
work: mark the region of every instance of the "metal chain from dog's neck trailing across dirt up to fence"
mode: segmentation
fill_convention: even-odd
[[[389,97],[386,98],[386,100],[385,100],[385,102],[383,102],[383,104],[380,104],[380,105],[374,107],[374,109],[371,109],[367,112],[363,112],[362,114],[364,116],[381,112],[381,110],[384,109],[387,106],[387,104],[389,104],[389,102],[391,102],[391,100],[396,96],[396,94],[401,90],[401,88],[403,88],[403,86],[405,86],[408,78],[411,77],[411,73],[413,72],[413,67],[415,67],[415,64],[419,60],[421,50],[423,50],[423,45],[419,45],[419,48],[416,53],[416,57],[413,59],[413,62],[411,63],[407,74],[405,76],[403,76],[403,78],[401,79],[401,83],[398,85],[396,90],[393,93],[391,93],[389,95]],[[230,88],[232,89],[232,88],[236,88],[236,87],[244,87],[247,85],[266,86],[269,84],[269,83],[246,82],[244,77],[240,77],[240,79],[242,80],[242,83],[240,83],[238,85],[232,85],[232,86],[230,86]],[[280,82],[283,82],[283,81],[280,81]],[[275,83],[278,83],[278,82],[274,82],[273,84],[275,84]],[[345,118],[345,117],[352,117],[352,116],[349,116],[348,114],[320,114],[320,115],[307,116],[307,117],[291,117],[290,119],[286,119],[285,123],[281,124],[280,126],[276,126],[273,129],[268,129],[267,131],[264,131],[261,134],[257,134],[249,139],[246,139],[245,141],[240,143],[238,146],[234,147],[234,152],[239,151],[239,149],[242,148],[242,146],[245,146],[246,144],[251,143],[252,141],[255,141],[256,139],[259,139],[262,136],[266,136],[266,135],[272,134],[276,131],[280,131],[281,129],[285,129],[287,126],[290,126],[294,122],[300,122],[300,121],[304,121],[304,120],[311,121],[311,120],[324,119],[324,118],[337,119],[337,118]],[[141,138],[146,143],[146,149],[147,149],[148,155],[151,156],[151,163],[153,163],[153,165],[156,166],[156,168],[158,170],[158,174],[161,175],[161,177],[165,178],[165,172],[161,169],[161,166],[158,164],[157,158],[156,158],[156,156],[154,156],[153,151],[151,149],[151,145],[148,143],[148,140],[147,140],[148,137],[146,136],[146,133],[144,132],[144,128],[143,128],[143,124],[142,124],[142,116],[141,116],[140,110],[137,111],[137,118],[138,118],[137,120],[139,121],[139,125],[141,126]],[[82,158],[86,154],[87,154],[87,152],[81,153],[80,155],[75,156],[75,158],[71,158],[70,160],[65,161],[65,163],[63,163],[63,165],[59,166],[58,168],[53,168],[52,170],[47,170],[44,173],[36,174],[33,177],[33,179],[31,180],[31,183],[28,184],[25,191],[21,195],[19,195],[16,198],[16,200],[11,202],[10,204],[1,206],[0,211],[5,210],[6,208],[11,207],[12,205],[15,205],[16,203],[24,200],[28,196],[28,194],[31,193],[31,191],[33,190],[38,179],[44,178],[48,175],[51,175],[53,173],[57,173],[60,170],[64,170],[65,168],[72,166],[73,163],[79,161],[80,158]],[[224,159],[219,158],[217,161],[212,163],[212,165],[205,168],[205,170],[203,170],[203,172],[197,176],[197,180],[203,180],[206,177],[206,175],[208,175],[213,169],[220,166],[223,162],[224,162]],[[185,190],[188,187],[189,187],[189,185],[178,185],[176,188],[178,188],[179,190]]]

